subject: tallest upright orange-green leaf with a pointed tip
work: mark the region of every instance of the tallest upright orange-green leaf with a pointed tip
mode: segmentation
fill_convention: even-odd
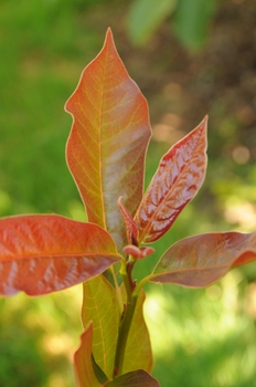
[[[117,206],[134,216],[142,197],[145,154],[151,135],[148,105],[129,77],[108,30],[103,50],[84,70],[66,103],[73,116],[66,158],[90,222],[126,244]]]

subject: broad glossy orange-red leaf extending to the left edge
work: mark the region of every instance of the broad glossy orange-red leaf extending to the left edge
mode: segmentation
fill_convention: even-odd
[[[111,237],[97,224],[55,215],[0,220],[0,294],[58,291],[94,278],[118,259]]]

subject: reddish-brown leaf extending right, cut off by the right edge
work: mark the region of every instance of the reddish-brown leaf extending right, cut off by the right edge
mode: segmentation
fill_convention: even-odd
[[[157,264],[152,282],[203,287],[231,268],[256,260],[256,232],[206,233],[173,244]]]

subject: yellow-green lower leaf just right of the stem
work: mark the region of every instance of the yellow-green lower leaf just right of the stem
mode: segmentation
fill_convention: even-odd
[[[124,287],[122,292],[125,299]],[[148,327],[143,318],[145,299],[145,292],[141,290],[126,344],[126,353],[122,366],[124,374],[140,368],[145,369],[148,373],[151,373],[152,370],[152,349]]]

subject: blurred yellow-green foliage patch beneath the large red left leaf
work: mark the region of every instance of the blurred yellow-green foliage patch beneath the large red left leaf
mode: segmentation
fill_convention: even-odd
[[[81,285],[40,299],[0,299],[0,386],[74,385],[81,303]]]

